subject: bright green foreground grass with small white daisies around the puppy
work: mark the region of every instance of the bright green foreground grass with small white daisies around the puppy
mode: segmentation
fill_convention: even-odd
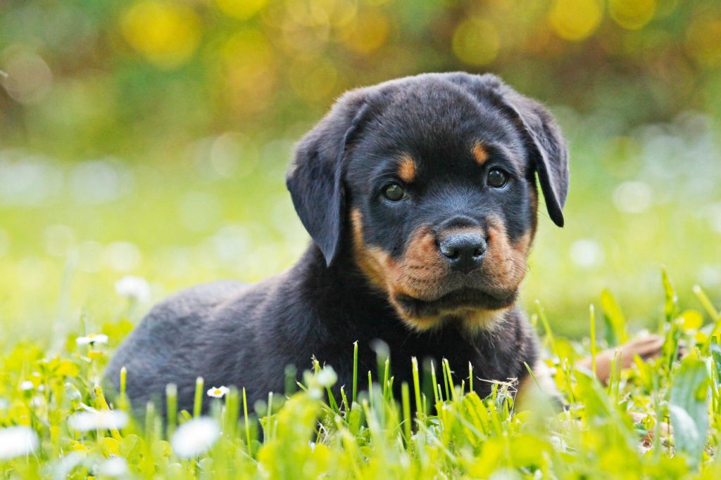
[[[370,392],[354,384],[335,397],[332,366],[309,363],[304,382],[284,398],[248,405],[244,392],[231,388],[214,399],[199,381],[195,412],[175,412],[171,387],[168,411],[175,414],[167,419],[149,409],[145,418],[98,427],[92,417],[83,431],[80,412],[130,411],[122,393],[108,405],[97,385],[130,322],[84,318],[57,352],[21,343],[0,358],[0,458],[8,455],[6,427],[26,425],[39,439],[31,453],[0,460],[0,472],[27,479],[718,478],[721,314],[702,289],[693,309],[678,304],[665,272],[663,289],[655,329],[665,337],[663,354],[614,371],[609,386],[573,367],[609,343],[553,335],[539,306],[531,320],[547,328],[547,363],[567,412],[554,411],[540,394],[526,407],[514,404],[512,382],[480,398],[474,374],[451,374],[447,363],[423,371],[415,359],[414,382],[402,386],[397,402],[392,366],[380,356],[377,372],[356,372],[373,379]],[[627,324],[616,301],[604,298],[603,315],[594,319],[592,309],[590,322],[613,345],[628,335]],[[89,333],[107,335],[108,344],[76,341]],[[349,345],[348,361],[353,356]],[[211,402],[210,420],[198,418],[199,402]],[[662,428],[669,419],[672,438]]]

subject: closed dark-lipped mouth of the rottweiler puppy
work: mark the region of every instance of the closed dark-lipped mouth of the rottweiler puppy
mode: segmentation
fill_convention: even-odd
[[[508,295],[490,294],[487,291],[461,288],[439,296],[437,299],[417,299],[398,294],[395,301],[409,317],[438,317],[468,310],[500,310],[510,307],[518,296],[518,290]]]

